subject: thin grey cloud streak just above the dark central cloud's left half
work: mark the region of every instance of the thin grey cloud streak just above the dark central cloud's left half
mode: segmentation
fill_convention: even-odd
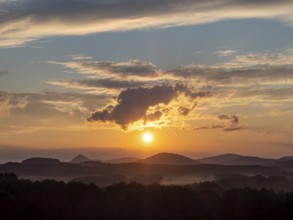
[[[59,85],[68,88],[93,89],[93,88],[107,88],[107,89],[125,89],[135,88],[145,85],[141,81],[123,81],[115,79],[86,79],[86,80],[61,80],[49,81],[51,85]]]

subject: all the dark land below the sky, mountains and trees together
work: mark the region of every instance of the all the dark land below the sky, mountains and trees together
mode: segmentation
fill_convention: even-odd
[[[129,161],[128,161],[129,160]],[[119,163],[122,161],[122,163]],[[133,162],[135,161],[135,162]],[[159,153],[0,166],[3,219],[292,219],[293,158]]]

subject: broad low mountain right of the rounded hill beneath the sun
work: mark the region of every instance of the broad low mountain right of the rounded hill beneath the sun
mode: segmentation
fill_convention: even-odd
[[[220,164],[220,165],[271,165],[274,159],[242,156],[238,154],[222,154],[214,157],[206,157],[198,160],[204,164]]]

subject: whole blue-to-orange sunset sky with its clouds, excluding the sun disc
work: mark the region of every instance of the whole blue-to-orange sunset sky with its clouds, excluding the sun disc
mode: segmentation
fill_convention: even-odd
[[[0,161],[293,155],[292,39],[291,0],[0,0]]]

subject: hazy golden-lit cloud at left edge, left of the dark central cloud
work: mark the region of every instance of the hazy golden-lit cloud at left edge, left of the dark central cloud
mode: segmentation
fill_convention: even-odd
[[[26,121],[29,124],[44,117],[66,118],[67,116],[80,117],[106,103],[108,97],[102,95],[79,94],[79,93],[7,93],[0,92],[0,116],[11,116],[7,118],[7,124],[16,118],[19,122]],[[99,100],[99,102],[96,102]],[[31,120],[34,118],[34,120]],[[79,118],[80,120],[80,118]]]

